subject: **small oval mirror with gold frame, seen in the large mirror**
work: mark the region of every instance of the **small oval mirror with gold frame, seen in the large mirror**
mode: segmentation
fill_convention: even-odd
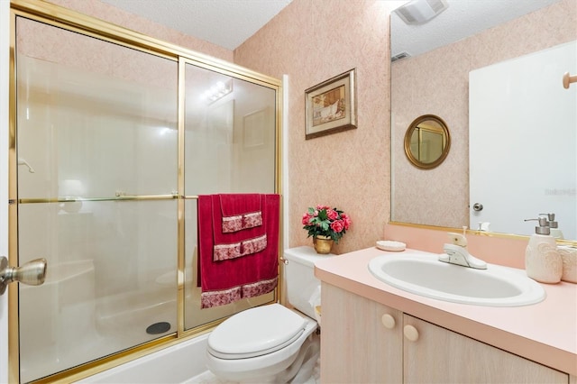
[[[451,147],[449,129],[435,114],[423,114],[405,133],[405,154],[420,169],[433,169],[443,162]]]

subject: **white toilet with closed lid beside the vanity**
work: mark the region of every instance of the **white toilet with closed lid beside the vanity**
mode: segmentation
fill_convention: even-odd
[[[320,352],[315,308],[310,303],[320,281],[310,247],[285,250],[287,299],[247,309],[226,319],[208,336],[206,366],[218,379],[252,383],[302,383],[310,378]]]

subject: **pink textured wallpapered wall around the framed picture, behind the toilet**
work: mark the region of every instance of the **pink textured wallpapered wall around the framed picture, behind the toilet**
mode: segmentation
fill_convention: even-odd
[[[308,206],[343,209],[353,224],[334,253],[382,238],[390,206],[389,2],[293,0],[234,50],[236,64],[289,75],[289,243],[311,245]],[[357,70],[358,128],[305,140],[305,89]]]

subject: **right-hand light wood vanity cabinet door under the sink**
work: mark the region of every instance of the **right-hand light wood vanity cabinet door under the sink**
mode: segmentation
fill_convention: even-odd
[[[410,315],[403,329],[405,383],[563,383],[569,375]],[[414,330],[410,327],[414,327]],[[412,337],[413,339],[415,337]]]

